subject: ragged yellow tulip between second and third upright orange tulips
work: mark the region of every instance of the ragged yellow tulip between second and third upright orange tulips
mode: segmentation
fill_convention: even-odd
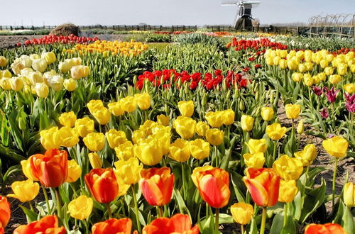
[[[129,160],[119,160],[114,163],[116,177],[121,177],[125,184],[136,184],[141,179],[143,164],[139,163],[136,157]]]

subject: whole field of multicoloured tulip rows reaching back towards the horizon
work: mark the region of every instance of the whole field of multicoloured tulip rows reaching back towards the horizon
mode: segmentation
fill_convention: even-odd
[[[0,234],[354,233],[354,40],[171,38],[0,48]]]

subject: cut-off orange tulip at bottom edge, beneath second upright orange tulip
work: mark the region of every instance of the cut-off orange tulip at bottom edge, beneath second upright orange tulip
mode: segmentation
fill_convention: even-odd
[[[132,221],[129,218],[111,218],[92,225],[92,234],[120,233],[131,234]]]

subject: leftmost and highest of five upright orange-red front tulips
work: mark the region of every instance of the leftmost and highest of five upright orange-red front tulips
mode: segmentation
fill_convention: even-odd
[[[31,156],[31,169],[35,178],[46,187],[56,188],[67,179],[67,152],[51,149],[44,155]]]

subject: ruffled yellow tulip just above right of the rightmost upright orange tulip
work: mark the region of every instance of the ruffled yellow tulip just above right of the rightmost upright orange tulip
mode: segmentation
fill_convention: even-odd
[[[273,169],[283,180],[297,180],[303,172],[303,164],[295,157],[282,155],[273,162]]]

